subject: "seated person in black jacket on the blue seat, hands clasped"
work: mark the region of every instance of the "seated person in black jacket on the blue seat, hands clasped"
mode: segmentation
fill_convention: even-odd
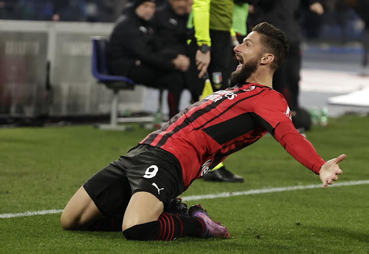
[[[110,36],[108,59],[112,74],[126,76],[137,84],[168,89],[169,116],[178,113],[184,88],[182,72],[189,66],[186,56],[156,45],[152,24],[155,0],[135,0],[124,10]]]

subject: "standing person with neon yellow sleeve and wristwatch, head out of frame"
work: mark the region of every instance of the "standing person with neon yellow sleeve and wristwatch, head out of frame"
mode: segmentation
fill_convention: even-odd
[[[202,94],[206,71],[215,91],[228,87],[227,49],[231,47],[233,6],[233,0],[193,0],[193,37],[189,45],[189,90],[193,101],[198,101]]]

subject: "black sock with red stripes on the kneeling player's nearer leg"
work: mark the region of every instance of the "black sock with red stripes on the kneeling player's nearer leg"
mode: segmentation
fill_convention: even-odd
[[[128,240],[171,241],[181,236],[200,236],[205,224],[198,218],[162,213],[155,222],[132,226],[123,231]]]

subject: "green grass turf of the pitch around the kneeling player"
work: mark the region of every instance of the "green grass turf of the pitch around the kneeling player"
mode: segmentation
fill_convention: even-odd
[[[369,179],[369,117],[330,119],[307,133],[324,159],[346,153],[339,182]],[[0,214],[62,209],[95,171],[119,158],[150,130],[101,131],[92,126],[0,129]],[[272,137],[229,156],[245,183],[199,179],[184,197],[319,184]],[[73,232],[60,213],[0,218],[0,253],[369,253],[369,185],[296,190],[200,202],[231,239],[135,242],[120,232]]]

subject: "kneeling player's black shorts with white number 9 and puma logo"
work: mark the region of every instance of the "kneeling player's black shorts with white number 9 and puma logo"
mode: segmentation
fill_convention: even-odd
[[[182,169],[171,153],[150,145],[137,145],[120,159],[96,172],[83,185],[105,216],[124,215],[131,196],[149,192],[164,204],[184,191]]]

